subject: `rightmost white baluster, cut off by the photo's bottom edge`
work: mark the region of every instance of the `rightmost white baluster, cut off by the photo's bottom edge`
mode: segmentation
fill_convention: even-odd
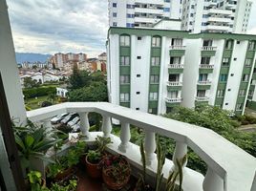
[[[203,180],[203,191],[224,191],[224,180],[209,166]]]

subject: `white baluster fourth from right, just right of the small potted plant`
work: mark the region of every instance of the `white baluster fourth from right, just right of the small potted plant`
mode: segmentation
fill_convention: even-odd
[[[118,149],[121,152],[126,153],[130,138],[131,138],[130,124],[126,122],[121,123],[121,133],[120,133],[121,143],[118,146]]]

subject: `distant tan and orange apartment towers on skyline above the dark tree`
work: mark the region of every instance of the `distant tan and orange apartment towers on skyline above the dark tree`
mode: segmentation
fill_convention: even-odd
[[[87,60],[85,53],[55,53],[50,61],[55,68],[63,68],[64,64],[68,62],[84,62]]]

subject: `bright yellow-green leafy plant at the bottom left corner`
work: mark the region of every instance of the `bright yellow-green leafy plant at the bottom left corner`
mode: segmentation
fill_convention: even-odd
[[[28,175],[29,187],[31,191],[49,191],[46,187],[46,181],[38,171],[31,171]]]

